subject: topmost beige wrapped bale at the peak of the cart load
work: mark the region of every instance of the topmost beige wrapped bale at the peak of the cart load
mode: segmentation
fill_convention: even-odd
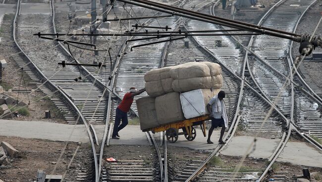
[[[188,62],[172,67],[170,75],[173,80],[210,76],[209,67],[202,62]]]

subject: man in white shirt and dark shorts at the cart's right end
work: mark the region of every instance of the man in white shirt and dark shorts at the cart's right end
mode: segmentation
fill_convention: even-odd
[[[213,134],[213,131],[217,127],[221,127],[220,137],[218,142],[220,144],[225,144],[222,140],[223,134],[225,133],[226,128],[228,128],[228,117],[226,106],[223,98],[225,98],[226,94],[224,91],[219,91],[207,104],[207,109],[210,113],[212,119],[212,127],[209,129],[207,143],[213,144],[210,140],[210,137]]]

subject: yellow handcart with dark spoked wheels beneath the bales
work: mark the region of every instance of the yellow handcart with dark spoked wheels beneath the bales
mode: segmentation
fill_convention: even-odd
[[[175,122],[175,123],[169,123],[169,124],[164,124],[159,127],[154,127],[149,129],[149,131],[152,132],[163,132],[166,131],[165,135],[167,137],[167,140],[171,143],[174,143],[177,141],[177,138],[179,135],[185,135],[185,137],[188,140],[193,140],[196,137],[196,133],[194,134],[195,136],[193,137],[192,132],[195,131],[193,126],[201,126],[201,130],[204,134],[204,137],[206,137],[206,125],[205,121],[210,120],[210,117],[208,115],[204,116],[199,116],[196,118],[191,118],[191,119],[186,119],[183,121]],[[178,130],[182,129],[182,133],[178,133]],[[169,138],[174,137],[176,139],[169,140]]]

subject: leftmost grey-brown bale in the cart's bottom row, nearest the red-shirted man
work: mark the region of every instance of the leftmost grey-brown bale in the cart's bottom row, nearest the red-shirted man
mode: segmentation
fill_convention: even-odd
[[[155,98],[144,96],[135,100],[140,118],[141,130],[158,127]]]

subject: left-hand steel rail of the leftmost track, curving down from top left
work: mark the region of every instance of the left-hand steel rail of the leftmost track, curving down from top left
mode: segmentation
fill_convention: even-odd
[[[78,118],[77,118],[77,121],[78,120],[81,120],[85,127],[86,127],[86,131],[88,133],[88,136],[89,136],[89,139],[90,139],[90,142],[91,142],[91,145],[92,145],[92,151],[93,151],[93,156],[94,156],[94,163],[95,163],[95,175],[97,176],[97,156],[96,156],[96,148],[95,148],[95,143],[94,143],[94,140],[93,140],[93,136],[92,136],[92,133],[90,131],[90,128],[85,120],[85,117],[83,116],[83,114],[81,113],[81,111],[78,109],[78,107],[73,103],[73,101],[64,93],[64,91],[62,91],[61,89],[59,89],[53,82],[51,82],[43,73],[42,71],[35,65],[35,63],[30,59],[30,57],[24,52],[24,50],[22,49],[22,47],[18,44],[18,42],[16,41],[16,24],[17,24],[17,17],[18,17],[18,14],[19,12],[21,11],[21,0],[18,0],[17,1],[17,8],[16,8],[16,13],[15,13],[15,16],[14,16],[14,20],[13,20],[13,40],[14,40],[14,43],[15,45],[18,47],[18,49],[23,53],[24,57],[26,58],[27,62],[28,63],[31,63],[29,64],[29,66],[31,67],[32,70],[34,70],[34,72],[36,72],[37,76],[40,77],[41,81],[42,82],[46,82],[48,84],[48,87],[51,89],[51,90],[54,90],[54,91],[58,91],[59,94],[61,95],[61,97],[64,99],[64,101],[67,102],[67,104],[71,107],[71,109],[74,111],[75,114],[78,115]],[[52,3],[50,4],[50,6],[52,5]],[[52,12],[53,9],[51,9]],[[54,17],[54,14],[52,14],[53,17]],[[75,123],[76,124],[76,123]]]

